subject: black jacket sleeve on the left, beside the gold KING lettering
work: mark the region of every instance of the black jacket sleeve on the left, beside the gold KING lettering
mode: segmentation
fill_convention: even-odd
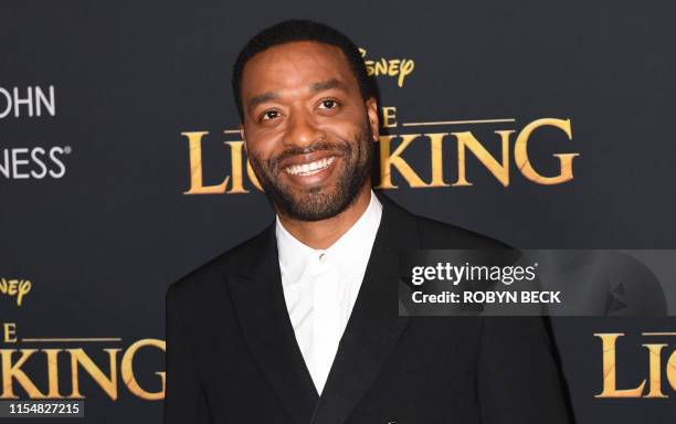
[[[169,287],[166,296],[165,364],[167,385],[165,392],[165,424],[210,424],[209,406],[198,380],[190,341],[181,322],[176,287]]]

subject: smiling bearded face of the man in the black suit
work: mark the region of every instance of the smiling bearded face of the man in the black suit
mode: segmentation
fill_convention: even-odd
[[[338,47],[303,41],[256,54],[243,70],[242,105],[251,166],[281,214],[335,216],[370,183],[376,100],[365,102]]]

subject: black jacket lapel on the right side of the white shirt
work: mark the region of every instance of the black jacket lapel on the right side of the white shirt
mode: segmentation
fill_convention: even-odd
[[[342,423],[374,381],[406,326],[399,316],[401,248],[420,244],[414,219],[384,197],[366,275],[311,424]]]

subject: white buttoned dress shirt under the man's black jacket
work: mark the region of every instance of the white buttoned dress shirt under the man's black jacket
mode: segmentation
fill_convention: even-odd
[[[381,216],[382,205],[371,191],[363,214],[324,251],[303,244],[277,216],[275,234],[286,308],[319,394],[361,287]]]

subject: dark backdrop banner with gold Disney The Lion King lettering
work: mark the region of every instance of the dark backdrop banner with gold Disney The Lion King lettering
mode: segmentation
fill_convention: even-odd
[[[167,287],[274,218],[230,76],[246,40],[284,19],[360,46],[380,91],[374,184],[412,212],[520,248],[676,248],[675,12],[3,2],[0,400],[161,422]],[[577,422],[674,422],[676,319],[623,317],[615,295],[605,317],[551,319]]]

